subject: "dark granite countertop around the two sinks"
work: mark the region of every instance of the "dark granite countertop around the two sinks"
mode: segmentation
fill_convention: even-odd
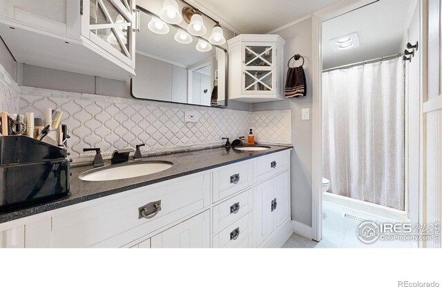
[[[185,175],[191,175],[196,172],[202,172],[220,166],[226,166],[238,161],[269,155],[273,152],[288,150],[293,146],[273,146],[268,150],[260,151],[240,151],[224,147],[209,148],[204,150],[194,150],[188,152],[177,152],[169,155],[144,157],[143,161],[171,161],[173,167],[162,172],[156,172],[152,175],[142,177],[133,177],[131,179],[118,179],[111,181],[83,181],[78,178],[81,172],[92,169],[92,166],[76,166],[71,168],[72,176],[70,177],[70,192],[68,195],[46,202],[27,206],[19,209],[13,209],[0,212],[0,224],[6,221],[12,221],[30,215],[36,215],[41,212],[55,210],[73,204],[79,204],[84,201],[106,197],[118,192],[124,192],[150,184],[156,184],[160,181],[166,181]],[[110,163],[106,163],[108,165]]]

